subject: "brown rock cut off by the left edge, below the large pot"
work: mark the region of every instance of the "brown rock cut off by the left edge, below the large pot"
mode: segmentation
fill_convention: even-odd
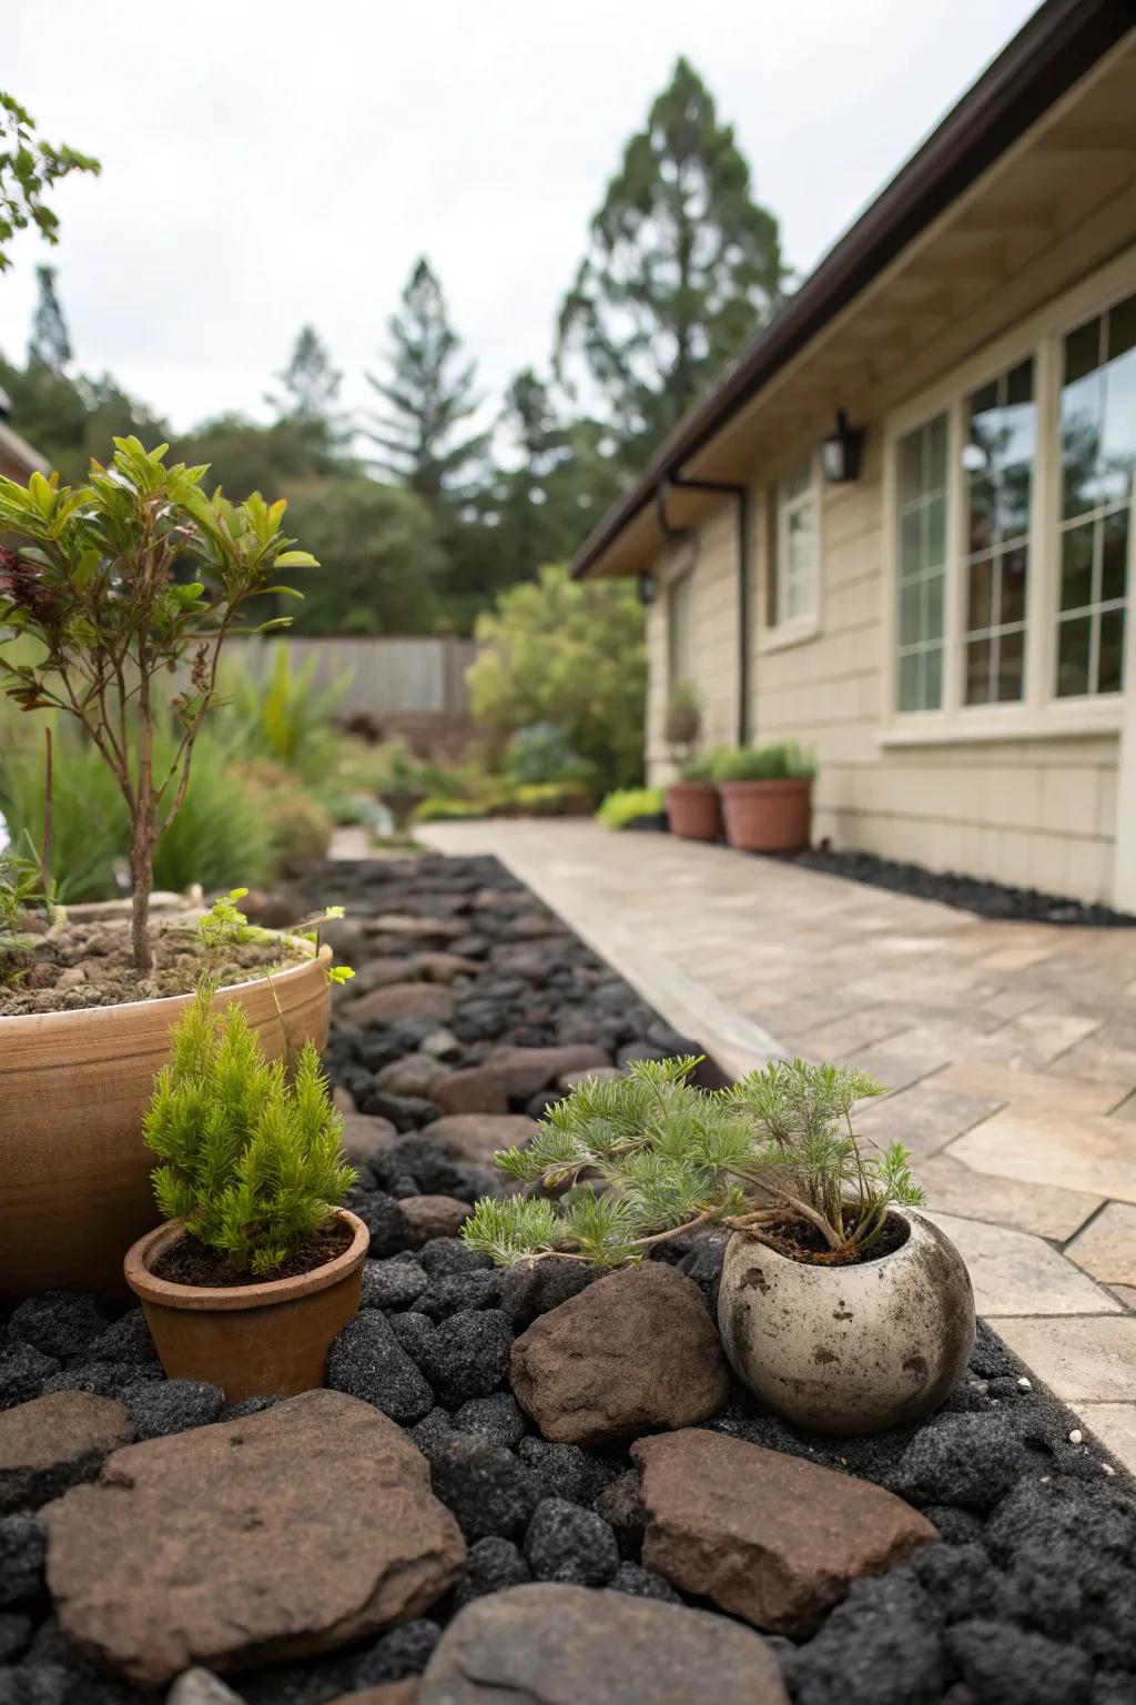
[[[121,1403],[92,1391],[51,1391],[0,1413],[0,1514],[34,1509],[129,1444],[135,1424]]]

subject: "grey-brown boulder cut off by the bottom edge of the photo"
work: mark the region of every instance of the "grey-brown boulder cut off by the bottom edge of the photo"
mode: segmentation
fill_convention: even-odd
[[[538,1582],[473,1599],[417,1705],[789,1705],[760,1635],[703,1610]]]

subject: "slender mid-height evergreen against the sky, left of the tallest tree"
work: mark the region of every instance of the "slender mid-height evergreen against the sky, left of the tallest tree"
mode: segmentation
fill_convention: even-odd
[[[422,256],[392,315],[390,379],[366,375],[388,409],[368,428],[375,460],[431,506],[434,515],[468,498],[489,433],[468,431],[479,407],[473,361],[450,326],[441,285]]]

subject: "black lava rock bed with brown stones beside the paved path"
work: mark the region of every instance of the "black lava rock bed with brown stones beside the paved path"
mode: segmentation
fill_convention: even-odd
[[[746,1627],[756,1620],[746,1599],[760,1574],[754,1546],[780,1555],[778,1579],[790,1582],[782,1603],[766,1603],[761,1627],[783,1630],[765,1649],[795,1705],[1121,1705],[1136,1696],[1133,1483],[986,1326],[937,1415],[867,1439],[806,1436],[707,1361],[702,1304],[715,1304],[720,1233],[674,1240],[640,1272],[608,1279],[569,1262],[502,1272],[456,1240],[465,1204],[502,1188],[492,1151],[523,1141],[526,1120],[574,1074],[695,1043],[492,859],[329,864],[295,902],[296,916],[313,904],[347,907],[329,938],[358,974],[337,996],[325,1064],[361,1168],[349,1207],[371,1231],[373,1258],[363,1311],[332,1352],[334,1391],[291,1400],[307,1408],[288,1408],[295,1419],[284,1427],[308,1425],[327,1454],[308,1442],[300,1461],[273,1456],[283,1449],[273,1417],[286,1405],[250,1402],[238,1407],[232,1432],[203,1430],[228,1419],[221,1393],[162,1379],[138,1309],[107,1311],[73,1294],[22,1304],[0,1326],[0,1408],[9,1412],[0,1417],[9,1427],[0,1425],[0,1705],[164,1698],[164,1683],[140,1671],[133,1681],[100,1679],[63,1635],[43,1586],[43,1526],[31,1514],[75,1480],[90,1480],[131,1436],[164,1437],[162,1471],[155,1458],[152,1485],[131,1470],[109,1490],[83,1488],[94,1514],[73,1531],[56,1533],[49,1517],[56,1592],[56,1570],[129,1579],[112,1639],[136,1669],[140,1654],[169,1644],[182,1610],[196,1613],[186,1606],[203,1591],[208,1598],[209,1584],[225,1601],[218,1642],[232,1640],[245,1616],[278,1616],[279,1639],[261,1640],[227,1678],[250,1705],[324,1705],[417,1676],[446,1630],[458,1639],[455,1613],[475,1599],[479,1639],[509,1671],[497,1676],[497,1696],[508,1691],[521,1705],[562,1698],[554,1681],[545,1693],[519,1676],[530,1659],[543,1669],[540,1642],[557,1618],[576,1628],[572,1696],[581,1705],[630,1696],[611,1686],[622,1630],[628,1652],[647,1639],[668,1652],[678,1676],[668,1705],[685,1698],[683,1664],[695,1664],[685,1642],[705,1623],[685,1618],[683,1603],[714,1616],[690,1696],[775,1702],[783,1693],[775,1674],[760,1673],[761,1647]],[[702,1074],[720,1081],[709,1064]],[[630,1291],[615,1289],[628,1282]],[[564,1313],[554,1315],[557,1308]],[[605,1328],[586,1425],[564,1398],[582,1340],[576,1330],[557,1333],[557,1321],[577,1320],[581,1330],[588,1320]],[[543,1436],[516,1402],[511,1379],[521,1378],[530,1412],[538,1388]],[[68,1415],[75,1436],[60,1425],[46,1442],[44,1427],[32,1427],[39,1412],[27,1410],[27,1432],[37,1436],[20,1442],[20,1408],[60,1391],[94,1393],[109,1407]],[[373,1408],[344,1407],[336,1391]],[[632,1432],[628,1403],[642,1405]],[[693,1425],[686,1410],[698,1415]],[[387,1543],[388,1494],[368,1473],[383,1451],[402,1449],[390,1422],[429,1459],[433,1492],[456,1517],[468,1555],[455,1563],[456,1540],[434,1536],[434,1596],[407,1601],[402,1621],[359,1637],[358,1604],[332,1601],[354,1589],[353,1558]],[[588,1442],[571,1442],[571,1434]],[[244,1442],[273,1470],[255,1517],[269,1531],[252,1540],[225,1529],[233,1506],[221,1485],[227,1463],[208,1454],[215,1439]],[[221,1451],[228,1463],[238,1454]],[[715,1475],[731,1487],[744,1482],[746,1499],[763,1504],[758,1534],[724,1514],[729,1499],[714,1502]],[[342,1540],[336,1567],[310,1555],[315,1524],[291,1504],[281,1514],[279,1504],[303,1497],[305,1483]],[[668,1517],[668,1499],[680,1495],[683,1511]],[[422,1497],[416,1487],[410,1507]],[[100,1499],[119,1512],[123,1531],[106,1557],[94,1557]],[[915,1511],[942,1543],[920,1543],[927,1534]],[[160,1531],[164,1512],[170,1533]],[[286,1543],[273,1543],[274,1516],[288,1517]],[[705,1523],[720,1523],[709,1546]],[[208,1562],[209,1546],[228,1538],[230,1550]],[[254,1546],[247,1553],[245,1543]],[[257,1558],[252,1579],[235,1569],[233,1557],[244,1555]],[[860,1579],[833,1604],[838,1565]],[[203,1574],[213,1567],[216,1581]],[[427,1565],[419,1558],[416,1567]],[[298,1569],[325,1584],[322,1628],[296,1621],[288,1594]],[[530,1599],[511,1591],[531,1581],[617,1592],[584,1599],[581,1611],[571,1592],[562,1596],[567,1587],[526,1587],[538,1594]],[[66,1620],[82,1592],[61,1596],[70,1599]],[[519,1623],[508,1613],[518,1603],[531,1606]],[[571,1623],[576,1615],[579,1625]],[[654,1618],[649,1633],[642,1618]],[[318,1644],[327,1649],[313,1650]],[[164,1673],[164,1652],[153,1654],[152,1674]],[[460,1652],[450,1661],[462,1671]],[[436,1696],[472,1702],[484,1693],[467,1678]],[[395,1695],[383,1705],[395,1705]],[[429,1688],[424,1705],[433,1705]]]

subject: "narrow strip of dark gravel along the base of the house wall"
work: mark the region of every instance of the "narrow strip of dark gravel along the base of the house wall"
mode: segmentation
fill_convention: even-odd
[[[881,858],[877,852],[836,852],[831,847],[807,847],[802,852],[765,854],[778,863],[804,864],[828,876],[846,876],[870,888],[889,888],[892,893],[911,893],[920,900],[938,900],[979,917],[993,917],[1024,924],[1073,924],[1076,928],[1131,928],[1136,917],[1114,912],[1109,905],[1087,905],[1056,893],[1039,893],[1036,888],[1008,888],[1000,881],[983,881],[978,876],[959,876],[954,871],[925,870],[921,864],[903,864]]]

